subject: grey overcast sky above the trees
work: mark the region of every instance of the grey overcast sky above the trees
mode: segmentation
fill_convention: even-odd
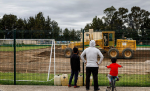
[[[104,16],[103,10],[111,6],[128,8],[129,12],[133,6],[150,11],[150,0],[0,0],[0,17],[14,14],[27,19],[42,12],[62,29],[79,30],[95,16]]]

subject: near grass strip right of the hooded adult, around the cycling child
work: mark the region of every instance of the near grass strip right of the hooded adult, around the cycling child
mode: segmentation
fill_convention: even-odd
[[[120,80],[116,82],[116,86],[138,86],[138,87],[149,87],[150,86],[150,75],[139,75],[139,74],[119,74]],[[109,81],[106,78],[106,74],[99,74],[98,79],[100,86],[108,86]]]

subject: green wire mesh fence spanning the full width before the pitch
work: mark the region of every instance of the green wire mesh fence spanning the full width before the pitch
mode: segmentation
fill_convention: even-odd
[[[14,52],[13,31],[0,31],[0,84],[14,84],[14,76],[16,76],[16,84],[20,85],[53,86],[56,85],[55,76],[62,74],[67,74],[69,80],[72,48],[77,47],[80,51],[78,55],[80,55],[83,51],[83,40],[84,48],[89,47],[90,40],[95,40],[95,47],[100,49],[104,55],[104,60],[99,65],[98,70],[100,86],[109,85],[107,74],[110,70],[105,66],[111,64],[111,55],[109,54],[111,48],[118,49],[117,63],[123,66],[118,70],[120,80],[116,83],[117,86],[150,86],[149,34],[148,32],[146,34],[140,32],[134,34],[134,32],[127,32],[127,30],[124,32],[119,30],[115,32],[90,30],[83,34],[82,30],[78,34],[68,34],[69,36],[67,36],[67,34],[52,34],[49,31],[43,32],[42,30],[36,32],[16,31],[16,52]],[[126,41],[119,42],[117,39]],[[134,40],[136,42],[133,42]],[[131,44],[128,45],[128,42]],[[119,49],[117,43],[120,43],[122,49]],[[123,46],[125,45],[128,45],[128,48],[131,49],[136,47],[136,50],[131,52],[133,53],[132,58],[123,57]],[[120,52],[120,50],[122,51]],[[16,54],[16,75],[14,75],[14,53]],[[130,53],[126,55],[130,55]],[[98,57],[98,61],[99,59]],[[86,65],[83,64],[82,60],[80,60],[80,69],[79,75],[82,76],[84,69],[85,81]]]

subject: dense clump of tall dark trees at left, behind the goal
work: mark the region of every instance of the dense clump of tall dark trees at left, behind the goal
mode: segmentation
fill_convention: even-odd
[[[16,15],[5,14],[0,19],[0,35],[4,38],[13,38],[13,30],[16,29],[17,39],[55,39],[59,40],[60,27],[58,23],[51,20],[49,16],[45,19],[42,12],[28,19],[17,19]]]

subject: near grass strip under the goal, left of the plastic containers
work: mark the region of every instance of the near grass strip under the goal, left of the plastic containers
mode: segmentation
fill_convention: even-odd
[[[16,84],[17,85],[54,85],[54,75],[50,74],[49,80],[47,81],[46,73],[16,73]],[[2,80],[3,79],[3,80]],[[12,72],[0,72],[0,84],[13,85],[14,74]],[[25,81],[22,81],[25,80]],[[32,80],[32,81],[31,81]]]

